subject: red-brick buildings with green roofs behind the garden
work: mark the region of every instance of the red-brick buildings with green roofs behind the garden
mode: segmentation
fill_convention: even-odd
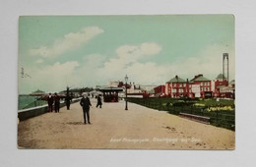
[[[154,88],[154,94],[150,96],[169,97],[222,97],[234,98],[235,83],[230,83],[223,74],[217,76],[213,81],[205,78],[202,74],[195,76],[192,80],[183,80],[178,76]]]

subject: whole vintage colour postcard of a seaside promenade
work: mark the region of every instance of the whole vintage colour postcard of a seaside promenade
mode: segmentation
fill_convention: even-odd
[[[234,149],[232,15],[22,16],[19,148]]]

